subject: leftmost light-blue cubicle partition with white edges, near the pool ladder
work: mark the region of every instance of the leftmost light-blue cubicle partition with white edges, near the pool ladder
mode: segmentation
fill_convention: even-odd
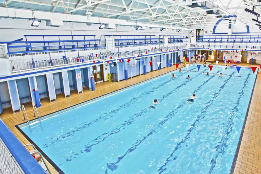
[[[9,81],[7,81],[7,84],[8,84],[8,88],[9,88],[9,94],[10,94],[10,100],[11,100],[13,112],[15,110],[21,111],[20,99],[19,99],[17,85],[16,85],[15,80],[9,80]]]

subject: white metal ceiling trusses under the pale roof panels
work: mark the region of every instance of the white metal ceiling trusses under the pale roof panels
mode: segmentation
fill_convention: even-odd
[[[193,0],[193,3],[208,3],[212,7],[191,8],[186,6],[185,0],[6,0],[2,6],[79,15],[90,11],[96,17],[195,28],[214,25],[220,19],[216,17],[220,16],[218,14],[207,14],[209,10],[237,15],[238,22],[251,23],[254,16],[244,8],[260,5],[257,0]],[[255,11],[261,13],[260,7]]]

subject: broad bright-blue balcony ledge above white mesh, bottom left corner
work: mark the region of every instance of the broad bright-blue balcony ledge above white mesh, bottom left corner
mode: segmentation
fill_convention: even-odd
[[[26,174],[46,174],[44,169],[37,163],[37,161],[30,155],[30,153],[23,147],[14,134],[7,128],[7,126],[0,119],[0,137],[6,144],[7,148]]]

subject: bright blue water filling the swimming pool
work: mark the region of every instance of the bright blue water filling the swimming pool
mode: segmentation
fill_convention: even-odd
[[[21,129],[66,174],[229,173],[256,72],[186,70]],[[193,93],[200,99],[185,104]]]

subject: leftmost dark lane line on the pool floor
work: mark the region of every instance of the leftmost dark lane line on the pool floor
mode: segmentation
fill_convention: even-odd
[[[193,68],[193,69],[195,69],[195,68]],[[192,70],[193,70],[193,69],[192,69]],[[180,75],[177,75],[177,77],[180,77],[180,76],[185,75],[185,74],[187,74],[187,73],[189,73],[189,72],[185,72],[185,73],[182,73],[182,74],[180,74]],[[91,125],[95,124],[95,123],[98,122],[99,120],[108,117],[110,114],[112,114],[112,113],[117,113],[120,109],[122,109],[122,108],[127,108],[127,107],[131,106],[131,104],[137,102],[137,101],[138,101],[139,99],[141,99],[142,97],[144,97],[144,96],[146,96],[146,95],[149,95],[149,94],[151,94],[151,93],[157,91],[161,86],[163,86],[163,85],[165,85],[165,84],[167,84],[167,83],[169,83],[169,82],[171,82],[171,81],[173,81],[173,78],[168,79],[167,81],[165,81],[165,82],[162,83],[162,84],[157,85],[156,87],[153,87],[150,91],[141,93],[141,94],[139,94],[138,96],[133,97],[132,99],[130,99],[129,102],[126,102],[125,104],[119,106],[119,108],[116,108],[116,109],[114,109],[114,110],[111,110],[110,112],[107,112],[107,113],[102,114],[102,116],[100,116],[99,118],[97,118],[97,119],[95,119],[95,120],[86,121],[86,122],[84,122],[84,123],[81,123],[81,126],[79,126],[78,128],[76,128],[76,129],[74,129],[74,130],[70,130],[70,131],[65,130],[62,135],[59,135],[58,137],[52,137],[51,139],[53,139],[53,140],[55,140],[55,141],[54,141],[54,142],[50,142],[49,144],[44,144],[44,147],[43,147],[43,148],[47,148],[47,147],[49,147],[49,146],[51,146],[51,145],[54,145],[56,142],[61,141],[61,140],[64,139],[64,138],[71,137],[71,136],[73,136],[73,135],[75,134],[75,132],[77,132],[77,131],[82,131],[83,129],[88,128],[88,127],[90,127]],[[66,131],[67,131],[67,132],[66,132]]]

